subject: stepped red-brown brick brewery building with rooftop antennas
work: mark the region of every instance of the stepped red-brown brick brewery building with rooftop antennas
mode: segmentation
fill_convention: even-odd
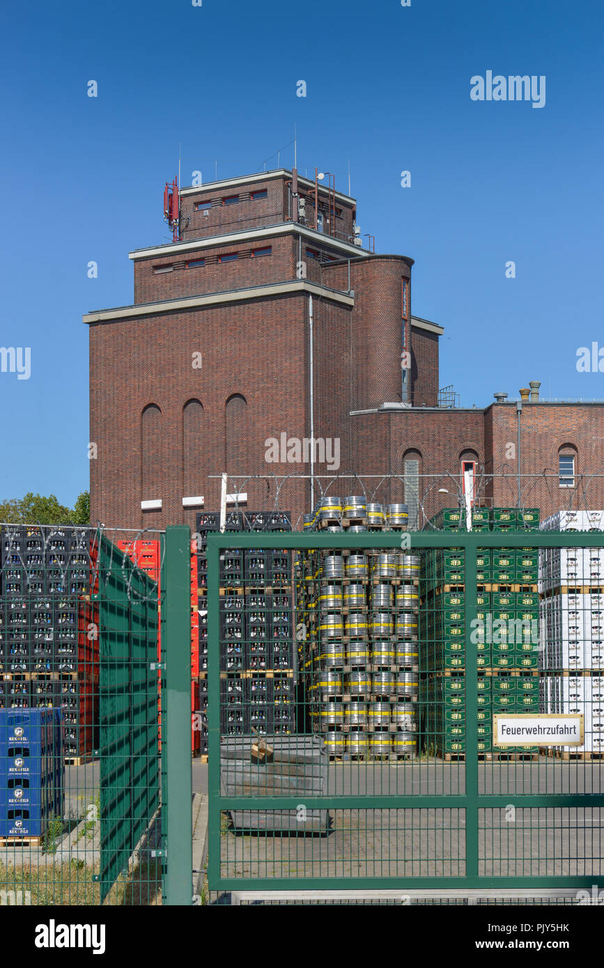
[[[83,318],[93,521],[194,525],[198,509],[219,506],[223,472],[244,506],[277,500],[295,520],[311,482],[283,478],[314,472],[323,487],[367,475],[368,495],[406,499],[421,526],[457,503],[463,462],[479,497],[517,503],[519,453],[524,505],[604,506],[590,479],[604,473],[604,405],[535,391],[520,414],[507,400],[449,406],[443,330],[411,312],[413,259],[362,248],[354,198],[295,170],[217,181],[181,191],[180,235],[130,254],[132,306]],[[286,459],[287,441],[312,438],[312,466]],[[271,439],[284,440],[277,461]],[[330,488],[358,490],[351,479]]]

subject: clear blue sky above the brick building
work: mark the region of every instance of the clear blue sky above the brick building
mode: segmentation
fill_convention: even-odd
[[[294,124],[302,171],[346,191],[349,160],[362,231],[415,259],[412,312],[445,327],[440,384],[464,406],[529,379],[604,397],[575,366],[604,346],[603,21],[585,0],[7,7],[0,345],[32,355],[29,379],[0,373],[0,499],[88,486],[81,315],[132,303],[128,252],[168,238],[179,143],[185,185],[215,160],[219,177],[276,167],[280,148],[290,166]],[[545,75],[546,105],[471,101],[489,70]]]

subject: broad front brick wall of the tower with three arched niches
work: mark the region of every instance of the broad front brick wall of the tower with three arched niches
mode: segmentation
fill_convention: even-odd
[[[304,298],[290,295],[91,325],[91,440],[98,444],[98,458],[91,462],[91,520],[122,528],[194,525],[195,511],[184,510],[182,498],[192,497],[185,494],[185,485],[189,490],[195,462],[196,491],[201,489],[206,509],[216,508],[220,482],[208,475],[226,469],[225,407],[231,394],[247,400],[247,408],[235,413],[231,423],[236,431],[246,421],[237,463],[264,475],[294,469],[267,465],[264,441],[282,431],[299,438],[306,432],[305,329],[296,324],[304,311]],[[194,370],[193,353],[199,351],[202,368]],[[191,399],[203,406],[202,429],[195,457],[189,454],[185,461],[183,438],[190,436],[183,428],[183,408]],[[150,495],[141,489],[141,414],[149,404],[161,410],[159,432],[149,445],[155,457],[162,455],[161,461],[154,457],[151,462],[158,479],[151,475],[145,480]],[[183,479],[185,467],[188,480]],[[244,485],[248,507],[273,506],[274,482],[236,482]],[[299,507],[305,504],[303,484],[289,493],[291,499],[297,495]],[[162,512],[141,512],[141,499],[159,497]]]

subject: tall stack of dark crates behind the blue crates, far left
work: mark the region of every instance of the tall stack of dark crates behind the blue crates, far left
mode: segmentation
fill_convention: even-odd
[[[0,530],[0,708],[62,709],[62,750],[72,762],[98,745],[90,540],[85,528]]]

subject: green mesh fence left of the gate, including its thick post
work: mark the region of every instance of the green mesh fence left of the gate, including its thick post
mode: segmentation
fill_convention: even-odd
[[[0,534],[0,904],[191,904],[189,529]]]

